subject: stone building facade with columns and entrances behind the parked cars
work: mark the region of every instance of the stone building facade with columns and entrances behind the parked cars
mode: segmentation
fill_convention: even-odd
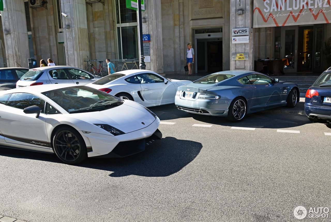
[[[28,58],[37,64],[51,58],[85,69],[87,60],[140,58],[139,18],[126,2],[137,1],[4,0],[0,66],[28,67]],[[144,43],[146,69],[184,73],[191,43],[193,73],[254,70],[254,60],[268,57],[286,58],[286,72],[321,72],[331,36],[330,1],[297,2],[144,0],[142,30],[150,35]],[[242,28],[244,35],[238,33]]]

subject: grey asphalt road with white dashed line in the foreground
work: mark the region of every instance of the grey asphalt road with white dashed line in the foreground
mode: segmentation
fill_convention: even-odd
[[[0,214],[28,222],[269,222],[299,221],[299,205],[331,209],[330,125],[299,114],[259,112],[232,123],[173,104],[150,109],[163,139],[127,158],[71,166],[0,149]]]

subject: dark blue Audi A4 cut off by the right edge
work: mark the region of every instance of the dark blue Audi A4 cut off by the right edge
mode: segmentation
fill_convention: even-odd
[[[331,121],[331,67],[325,70],[306,93],[305,113],[312,122]]]

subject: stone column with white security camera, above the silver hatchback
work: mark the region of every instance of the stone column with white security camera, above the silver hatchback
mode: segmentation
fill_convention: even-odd
[[[75,67],[86,67],[84,60],[89,59],[86,1],[62,0],[61,11],[68,15],[62,19],[66,62]]]

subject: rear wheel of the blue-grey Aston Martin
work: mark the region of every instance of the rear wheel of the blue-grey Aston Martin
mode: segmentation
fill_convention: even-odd
[[[240,122],[246,115],[247,104],[243,97],[235,98],[228,111],[227,118],[232,122]]]

